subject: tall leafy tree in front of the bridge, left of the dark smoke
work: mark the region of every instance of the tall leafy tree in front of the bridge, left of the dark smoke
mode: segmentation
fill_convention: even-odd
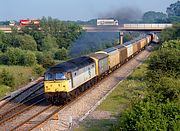
[[[51,17],[43,17],[40,24],[45,34],[50,34],[57,39],[59,48],[68,49],[82,31],[81,27],[73,22],[64,22]]]

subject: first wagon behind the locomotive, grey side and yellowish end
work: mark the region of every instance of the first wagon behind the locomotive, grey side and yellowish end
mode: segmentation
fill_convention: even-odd
[[[96,75],[100,76],[104,72],[109,70],[108,67],[108,55],[104,53],[91,54],[89,57],[94,59],[96,63]]]

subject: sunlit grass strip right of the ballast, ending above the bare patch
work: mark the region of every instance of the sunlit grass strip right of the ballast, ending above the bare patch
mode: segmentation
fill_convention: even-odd
[[[143,79],[146,70],[147,64],[138,67],[126,80],[118,85],[96,110],[119,112],[122,110],[122,104],[127,105],[132,98],[144,95],[146,84]]]

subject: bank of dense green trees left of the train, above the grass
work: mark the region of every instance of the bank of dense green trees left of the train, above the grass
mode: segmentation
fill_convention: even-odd
[[[39,27],[22,27],[11,34],[0,32],[0,64],[32,66],[40,64],[44,68],[56,60],[68,58],[71,44],[81,34],[81,27],[73,22],[63,22],[51,17],[43,17]]]

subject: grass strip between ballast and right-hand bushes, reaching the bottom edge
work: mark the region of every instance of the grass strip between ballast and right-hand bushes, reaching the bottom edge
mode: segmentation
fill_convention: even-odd
[[[145,62],[124,81],[97,107],[96,111],[108,111],[112,119],[86,119],[77,130],[110,130],[116,123],[119,112],[131,105],[131,102],[146,94],[144,81],[148,64]],[[113,118],[115,117],[115,119]]]

